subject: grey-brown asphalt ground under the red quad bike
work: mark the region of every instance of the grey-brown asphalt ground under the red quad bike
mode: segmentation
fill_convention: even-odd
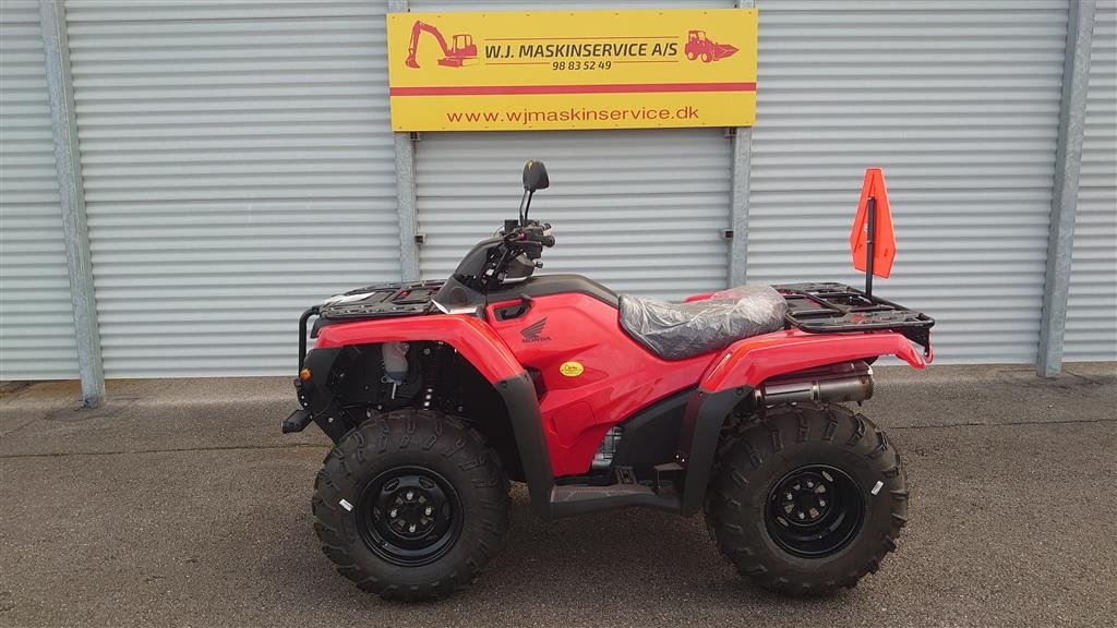
[[[312,530],[327,439],[279,434],[283,378],[75,383],[0,394],[0,626],[1117,625],[1117,365],[878,369],[910,522],[880,572],[828,599],[752,587],[700,517],[545,522],[514,486],[505,552],[472,588],[382,602]]]

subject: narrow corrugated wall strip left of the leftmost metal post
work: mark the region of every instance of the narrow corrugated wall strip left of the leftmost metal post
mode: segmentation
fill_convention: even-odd
[[[0,380],[77,377],[37,0],[0,2]]]

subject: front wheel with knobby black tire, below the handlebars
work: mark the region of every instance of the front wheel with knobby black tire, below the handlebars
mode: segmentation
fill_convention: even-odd
[[[384,599],[449,596],[504,546],[508,478],[455,417],[374,417],[331,450],[315,479],[314,529],[337,571]]]

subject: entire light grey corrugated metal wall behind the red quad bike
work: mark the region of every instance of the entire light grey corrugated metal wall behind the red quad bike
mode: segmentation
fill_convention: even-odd
[[[109,377],[287,373],[302,308],[399,277],[384,4],[67,1]],[[750,279],[859,283],[849,223],[863,169],[884,166],[900,241],[880,293],[938,318],[943,362],[1033,361],[1068,0],[757,4]],[[630,3],[468,8],[558,7]],[[1117,358],[1115,12],[1099,3],[1067,360]],[[0,3],[0,379],[71,378],[37,2]],[[713,129],[424,134],[422,273],[514,215],[533,158],[554,182],[535,211],[560,239],[546,272],[720,287],[729,145]]]

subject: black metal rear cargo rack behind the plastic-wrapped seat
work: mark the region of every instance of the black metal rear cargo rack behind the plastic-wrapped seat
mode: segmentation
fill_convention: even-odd
[[[784,284],[772,286],[787,302],[784,321],[804,332],[842,333],[878,330],[904,334],[930,354],[935,320],[844,284]]]

